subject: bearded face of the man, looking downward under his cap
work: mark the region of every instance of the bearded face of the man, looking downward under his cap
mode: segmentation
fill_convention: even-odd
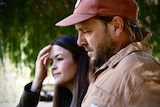
[[[77,43],[88,52],[94,66],[100,67],[114,54],[117,42],[113,38],[112,28],[95,18],[78,23],[75,28],[78,31]]]

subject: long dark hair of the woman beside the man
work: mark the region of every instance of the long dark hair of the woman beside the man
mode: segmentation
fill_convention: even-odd
[[[72,92],[63,86],[55,86],[53,107],[81,107],[89,85],[89,57],[84,48],[77,45],[76,36],[62,36],[51,45],[59,45],[72,53],[73,60],[78,64],[78,70]]]

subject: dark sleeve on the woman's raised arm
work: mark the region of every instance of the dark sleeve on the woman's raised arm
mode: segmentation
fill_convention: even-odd
[[[27,84],[24,87],[23,94],[20,98],[20,101],[17,107],[36,107],[37,106],[40,99],[41,89],[37,90],[36,92],[31,92],[30,91],[31,85],[32,85],[32,82]]]

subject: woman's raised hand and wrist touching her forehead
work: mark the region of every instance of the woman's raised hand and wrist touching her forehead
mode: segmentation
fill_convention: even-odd
[[[44,79],[47,76],[47,65],[49,61],[50,49],[51,49],[51,45],[48,45],[44,47],[38,54],[38,57],[36,60],[35,78],[31,86],[32,92],[35,92],[36,90],[40,89]]]

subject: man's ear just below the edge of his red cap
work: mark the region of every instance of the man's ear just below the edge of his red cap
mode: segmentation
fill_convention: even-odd
[[[114,16],[112,19],[112,24],[114,26],[115,36],[119,36],[124,29],[124,21],[119,16]]]

